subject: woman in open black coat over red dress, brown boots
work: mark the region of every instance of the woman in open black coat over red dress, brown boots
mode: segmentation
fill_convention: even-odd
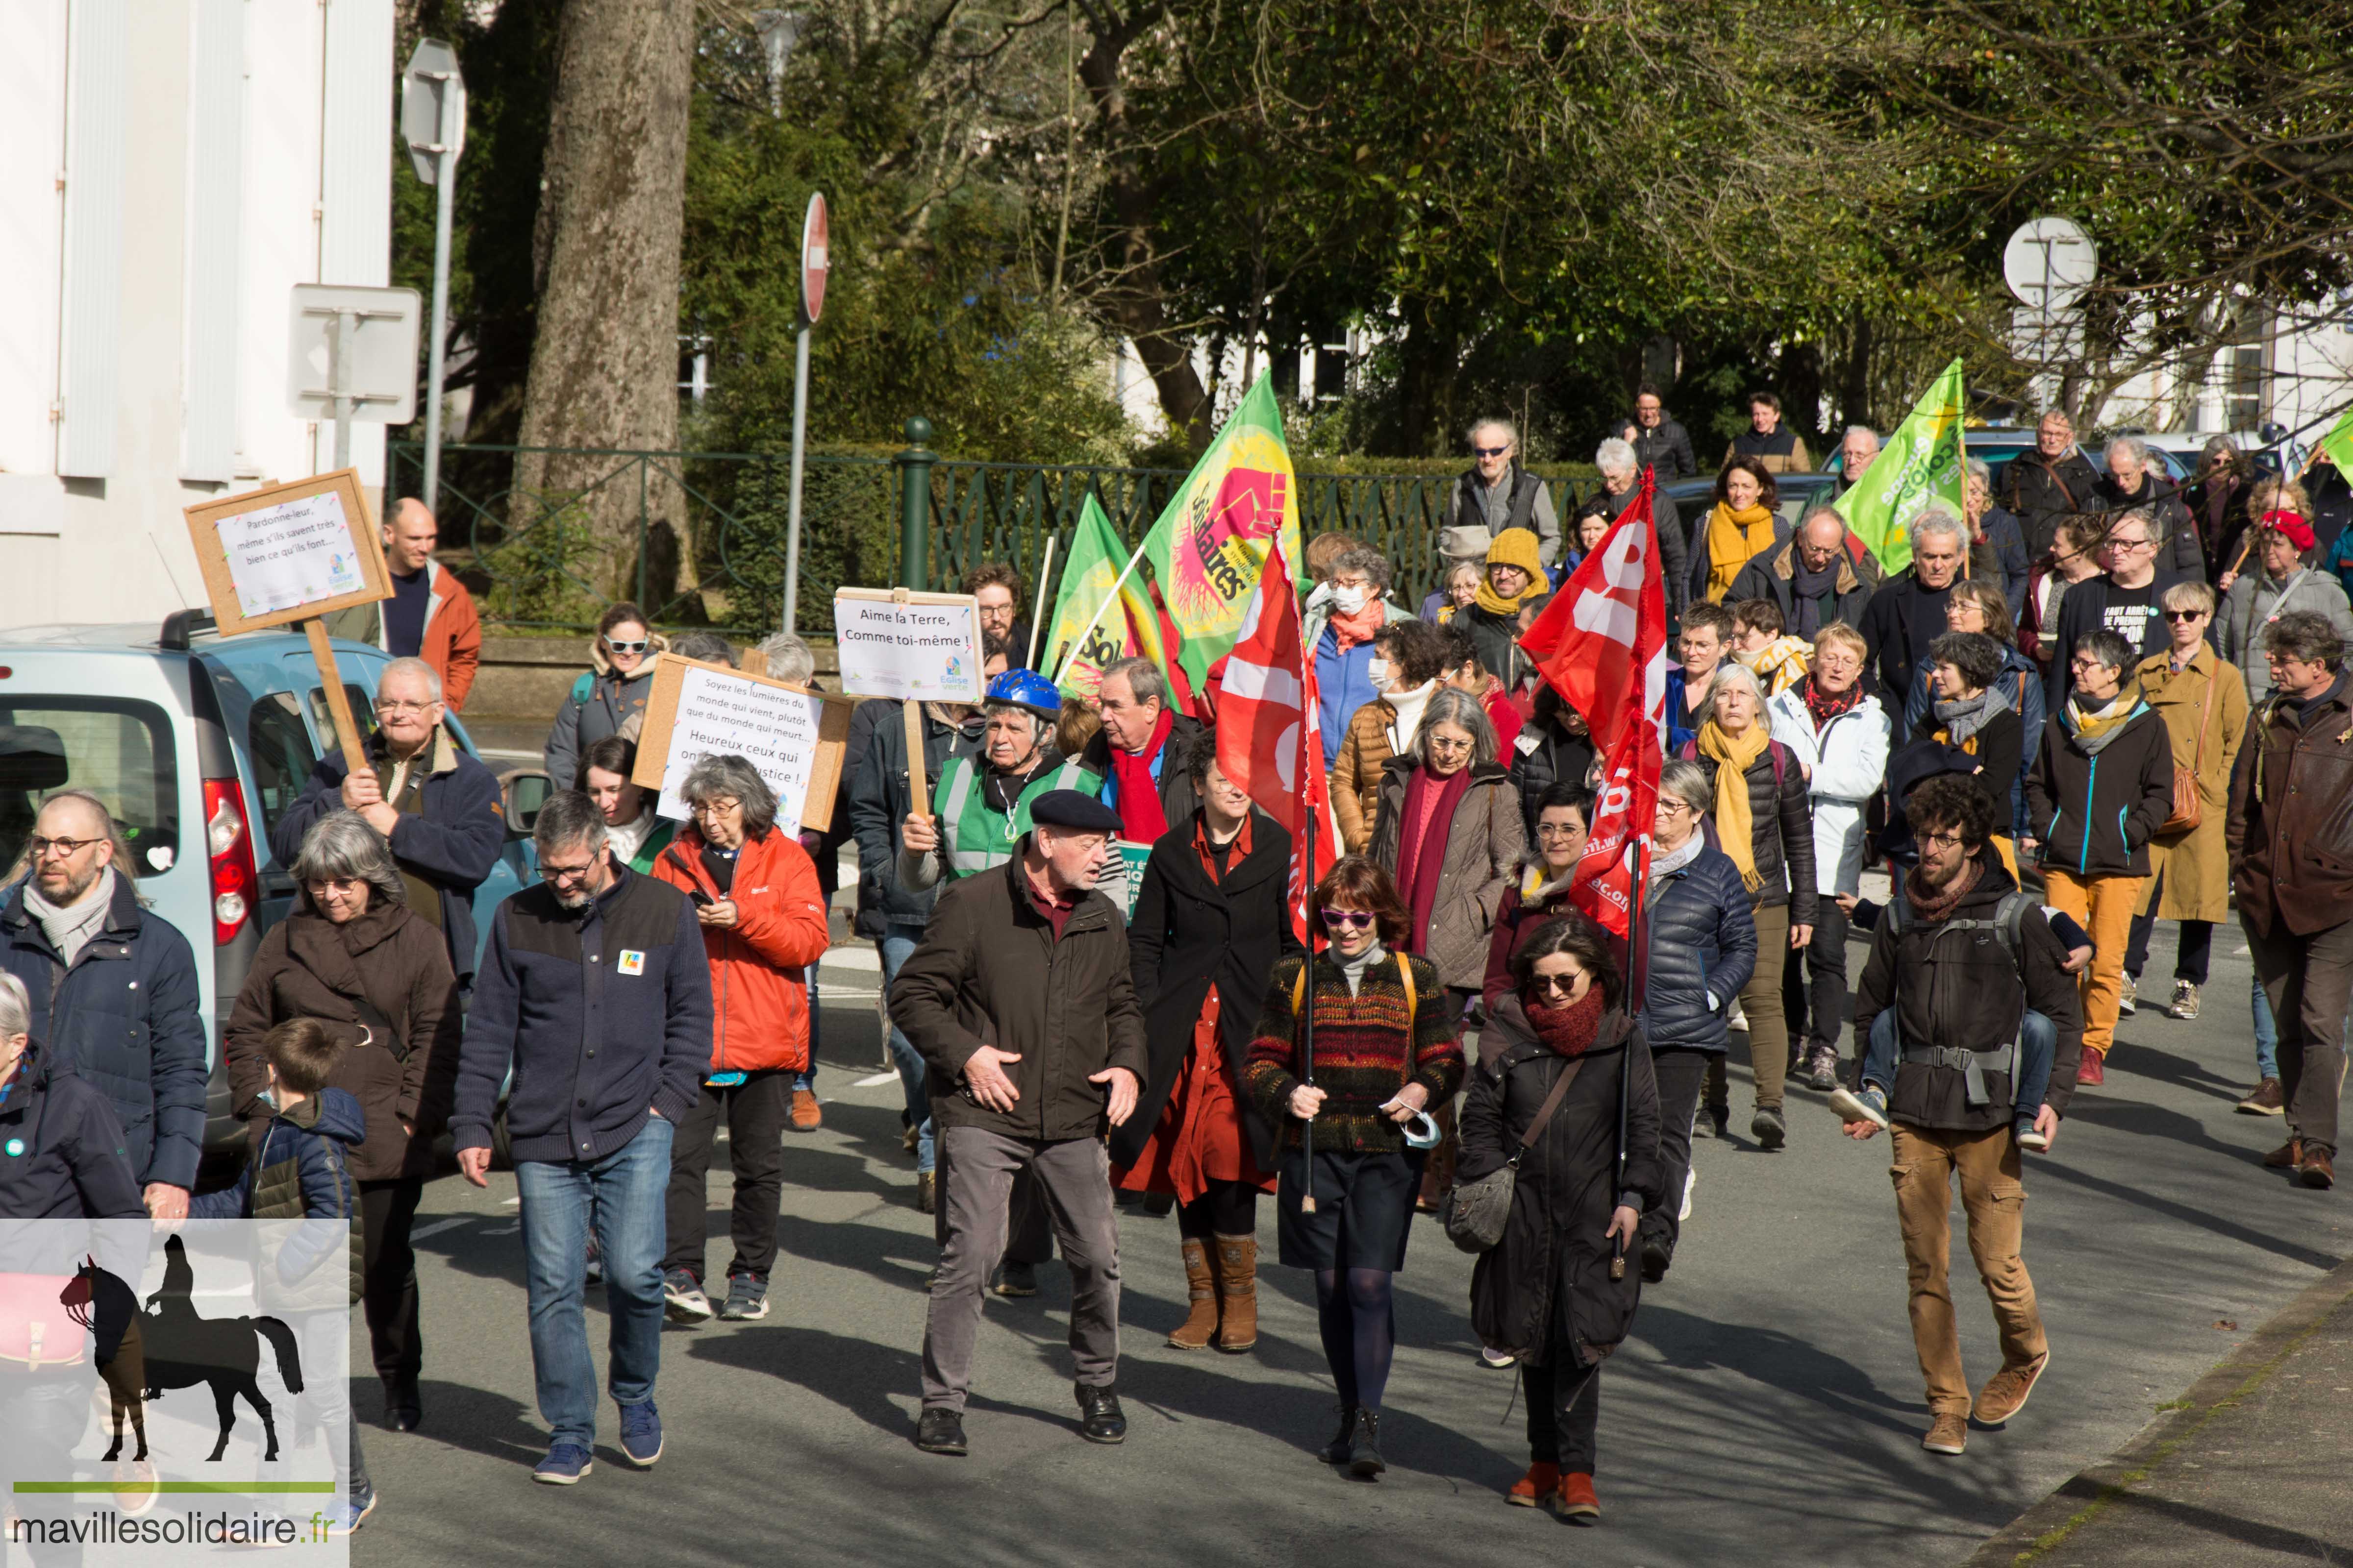
[[[1242,1093],[1242,1058],[1266,976],[1299,952],[1292,835],[1219,771],[1214,733],[1193,736],[1176,764],[1200,809],[1153,844],[1127,922],[1151,1074],[1111,1128],[1111,1161],[1120,1190],[1179,1204],[1191,1307],[1169,1345],[1238,1354],[1259,1340],[1257,1204],[1275,1190],[1275,1128]]]

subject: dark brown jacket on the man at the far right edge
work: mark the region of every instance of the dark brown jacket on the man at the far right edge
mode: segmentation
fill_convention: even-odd
[[[2311,724],[2287,701],[2247,719],[2228,844],[2238,910],[2259,936],[2353,919],[2353,677],[2337,675]]]

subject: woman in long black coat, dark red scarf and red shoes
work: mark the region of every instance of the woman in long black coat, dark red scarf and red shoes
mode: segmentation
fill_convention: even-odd
[[[1471,1272],[1471,1326],[1527,1375],[1529,1467],[1506,1500],[1593,1523],[1600,1366],[1642,1295],[1626,1248],[1664,1197],[1659,1084],[1588,929],[1546,924],[1511,966],[1518,992],[1487,1023],[1461,1117],[1459,1180],[1520,1161],[1504,1239]],[[1527,1140],[1555,1088],[1560,1103]]]

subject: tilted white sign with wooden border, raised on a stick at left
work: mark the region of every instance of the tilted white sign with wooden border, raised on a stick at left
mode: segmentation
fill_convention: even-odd
[[[393,597],[355,468],[205,501],[186,517],[224,637]]]

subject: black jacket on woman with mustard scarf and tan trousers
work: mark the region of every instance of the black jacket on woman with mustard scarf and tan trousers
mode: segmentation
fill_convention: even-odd
[[[2026,776],[2026,809],[2042,865],[2075,877],[2146,877],[2148,839],[2174,811],[2174,738],[2134,691],[2125,731],[2089,755],[2066,710],[2042,722],[2042,755]]]

